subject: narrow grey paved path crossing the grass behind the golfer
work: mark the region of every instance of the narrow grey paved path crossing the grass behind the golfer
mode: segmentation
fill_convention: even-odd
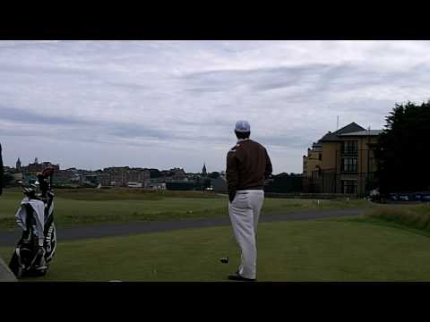
[[[363,213],[361,209],[348,210],[326,210],[326,211],[305,211],[289,213],[286,215],[262,215],[261,223],[270,223],[284,220],[305,220],[315,218],[325,218],[333,216],[357,216]],[[183,219],[151,222],[133,222],[126,224],[103,224],[84,225],[73,228],[58,229],[56,234],[58,241],[73,241],[89,238],[125,236],[137,233],[154,233],[172,231],[186,228],[205,228],[230,225],[230,219],[224,218],[204,218],[204,219]],[[13,232],[0,231],[0,246],[13,246],[18,242],[22,231],[16,229]]]

